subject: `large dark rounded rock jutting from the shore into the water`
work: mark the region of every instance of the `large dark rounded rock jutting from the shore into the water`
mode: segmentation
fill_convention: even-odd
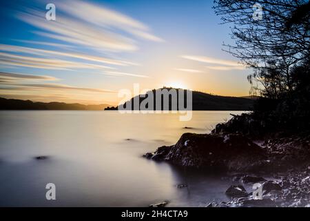
[[[229,135],[227,140],[223,135],[185,133],[175,145],[158,148],[152,160],[196,168],[252,171],[265,160],[264,153],[242,135]]]

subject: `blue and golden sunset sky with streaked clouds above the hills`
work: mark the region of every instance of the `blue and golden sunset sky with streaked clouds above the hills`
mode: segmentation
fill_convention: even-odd
[[[54,3],[56,20],[45,18]],[[0,97],[118,104],[118,91],[172,86],[249,95],[251,70],[223,51],[209,0],[1,1]]]

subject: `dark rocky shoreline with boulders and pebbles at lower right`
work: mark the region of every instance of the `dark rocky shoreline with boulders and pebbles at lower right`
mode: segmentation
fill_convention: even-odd
[[[226,194],[231,201],[207,206],[310,206],[310,136],[273,133],[255,139],[245,134],[251,126],[240,124],[243,119],[233,117],[210,134],[185,133],[175,145],[144,157],[228,173],[231,186]],[[262,185],[259,200],[245,190],[253,184]]]

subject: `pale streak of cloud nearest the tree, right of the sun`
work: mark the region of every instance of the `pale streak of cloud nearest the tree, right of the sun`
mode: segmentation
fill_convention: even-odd
[[[207,66],[207,68],[212,70],[242,70],[245,67],[242,64],[238,64],[237,61],[225,60],[225,59],[217,59],[214,57],[203,57],[196,55],[182,55],[184,59],[189,59],[192,61],[199,61],[207,64],[218,64],[220,66]]]

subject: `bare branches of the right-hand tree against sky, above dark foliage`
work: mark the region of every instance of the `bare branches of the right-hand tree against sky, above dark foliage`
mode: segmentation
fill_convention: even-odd
[[[309,61],[306,0],[216,0],[216,15],[231,23],[234,45],[225,50],[253,68],[251,93],[278,99],[293,90],[291,71]],[[260,13],[261,17],[256,17]]]

